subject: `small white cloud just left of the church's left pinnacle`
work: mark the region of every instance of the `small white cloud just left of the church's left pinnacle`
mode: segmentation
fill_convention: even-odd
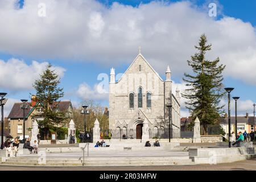
[[[108,93],[101,92],[102,88],[98,84],[93,89],[86,83],[80,84],[77,90],[77,96],[82,100],[108,100]]]

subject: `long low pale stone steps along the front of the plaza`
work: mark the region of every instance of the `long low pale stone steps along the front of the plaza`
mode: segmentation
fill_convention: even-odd
[[[82,166],[82,158],[46,158],[39,163],[38,158],[9,158],[3,165],[15,166]],[[92,157],[85,158],[85,166],[173,166],[193,165],[188,156],[150,156],[150,157]]]

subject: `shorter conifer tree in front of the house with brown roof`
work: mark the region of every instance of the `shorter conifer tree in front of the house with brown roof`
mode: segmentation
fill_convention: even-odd
[[[63,88],[59,88],[60,78],[48,64],[46,70],[36,80],[33,87],[36,90],[38,102],[43,106],[43,121],[38,121],[39,126],[48,138],[49,130],[55,130],[56,126],[67,119],[66,114],[57,109],[59,98],[64,96]]]

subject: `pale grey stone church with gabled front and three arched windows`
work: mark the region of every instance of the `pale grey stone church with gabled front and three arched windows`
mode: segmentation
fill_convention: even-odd
[[[166,78],[163,80],[139,53],[118,81],[115,80],[115,70],[111,69],[109,82],[110,130],[133,130],[135,133],[133,137],[136,139],[141,139],[143,131],[146,130],[167,131],[169,126],[167,105],[170,104],[172,105],[172,131],[176,131],[176,135],[179,135],[180,91],[176,90],[176,96],[172,94],[169,67],[166,70]],[[129,134],[127,135],[129,137]],[[172,137],[174,135],[175,132]]]

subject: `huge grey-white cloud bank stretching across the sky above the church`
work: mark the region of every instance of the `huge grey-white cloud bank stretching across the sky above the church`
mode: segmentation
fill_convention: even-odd
[[[173,74],[182,76],[205,32],[213,44],[208,58],[219,56],[227,65],[226,76],[256,84],[255,28],[228,16],[210,18],[207,5],[159,1],[132,7],[115,2],[108,8],[94,0],[27,0],[16,9],[15,2],[0,2],[2,52],[110,66],[130,63],[142,46],[159,73],[170,64]],[[46,17],[38,16],[39,3],[46,4]]]

